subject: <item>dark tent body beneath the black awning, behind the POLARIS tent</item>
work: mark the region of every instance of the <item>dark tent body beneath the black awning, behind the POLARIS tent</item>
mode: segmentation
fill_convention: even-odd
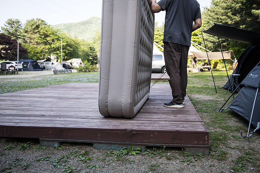
[[[239,74],[239,76],[234,76],[234,78],[230,77],[230,83],[235,83],[236,86],[238,86],[244,78],[247,76],[247,74],[260,62],[260,46],[258,44],[256,45],[250,45],[244,52],[240,55],[240,57],[237,60],[237,67],[234,69],[232,74]],[[233,81],[234,80],[234,81]],[[226,84],[223,86],[224,89],[229,89],[230,84],[229,81],[226,82]],[[238,88],[238,91],[241,88]],[[235,90],[235,87],[232,88],[232,91]]]

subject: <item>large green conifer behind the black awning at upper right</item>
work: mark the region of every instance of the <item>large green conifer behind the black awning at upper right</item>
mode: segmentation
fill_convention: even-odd
[[[202,13],[203,26],[201,30],[209,29],[214,22],[247,31],[260,32],[260,0],[212,0],[210,8],[205,8]],[[208,34],[203,35],[207,49],[220,51],[218,38]],[[236,57],[248,47],[248,44],[234,42],[220,38],[222,50],[236,50]],[[239,51],[240,50],[240,51]]]

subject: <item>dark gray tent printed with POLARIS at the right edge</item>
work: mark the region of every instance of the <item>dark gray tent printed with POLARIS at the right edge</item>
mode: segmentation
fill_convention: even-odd
[[[251,123],[256,127],[254,132],[260,127],[260,63],[246,75],[240,86],[243,86],[242,89],[228,108],[249,121],[248,137]]]

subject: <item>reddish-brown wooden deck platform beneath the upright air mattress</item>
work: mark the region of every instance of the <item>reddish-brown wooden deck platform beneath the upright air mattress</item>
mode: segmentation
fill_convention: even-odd
[[[0,95],[0,137],[184,147],[208,153],[209,132],[192,103],[166,108],[169,84],[155,84],[133,119],[103,117],[98,83],[71,83]]]

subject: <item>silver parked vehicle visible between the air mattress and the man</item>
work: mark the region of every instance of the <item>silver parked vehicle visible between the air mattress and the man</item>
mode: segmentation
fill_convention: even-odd
[[[152,73],[166,73],[164,54],[153,54]]]

